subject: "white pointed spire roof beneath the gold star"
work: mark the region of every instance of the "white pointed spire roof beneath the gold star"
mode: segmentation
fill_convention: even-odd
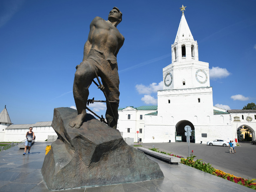
[[[185,15],[184,15],[184,13],[182,13],[180,23],[179,23],[179,29],[178,29],[174,43],[177,43],[178,41],[182,41],[184,39],[186,39],[186,40],[189,39],[189,40],[194,41],[194,38],[193,38],[191,31],[188,27]]]

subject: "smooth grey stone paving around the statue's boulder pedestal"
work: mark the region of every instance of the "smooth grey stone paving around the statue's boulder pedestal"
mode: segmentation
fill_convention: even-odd
[[[43,181],[41,167],[45,157],[45,148],[50,144],[49,142],[34,143],[31,147],[30,155],[22,155],[24,151],[20,150],[18,146],[1,152],[0,191],[49,191]],[[159,164],[164,173],[164,178],[137,183],[68,189],[65,191],[253,191],[250,188],[183,164],[170,165],[158,159],[149,158]]]

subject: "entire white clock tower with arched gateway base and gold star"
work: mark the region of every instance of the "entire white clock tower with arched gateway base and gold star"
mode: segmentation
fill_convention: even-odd
[[[184,16],[174,44],[172,63],[163,69],[163,90],[157,91],[157,111],[145,115],[144,143],[189,141],[206,143],[233,138],[230,113],[213,106],[209,64],[198,60],[198,45]],[[187,137],[184,127],[191,127]],[[189,138],[189,140],[187,140]]]

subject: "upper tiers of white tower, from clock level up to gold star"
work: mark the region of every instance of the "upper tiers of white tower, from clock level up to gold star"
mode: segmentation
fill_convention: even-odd
[[[163,69],[164,90],[210,87],[209,64],[198,60],[198,45],[184,16],[172,44],[172,64]]]

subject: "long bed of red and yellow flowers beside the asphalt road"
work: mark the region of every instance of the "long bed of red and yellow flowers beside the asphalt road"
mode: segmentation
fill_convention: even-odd
[[[164,153],[164,154],[167,154],[167,155],[170,155],[170,156],[179,157],[179,158],[181,158],[180,163],[183,163],[187,166],[199,169],[201,171],[210,173],[212,175],[227,179],[227,180],[232,181],[234,183],[238,183],[240,185],[243,185],[243,186],[246,186],[246,187],[249,187],[249,188],[252,188],[252,189],[256,190],[256,183],[253,183],[253,181],[255,181],[256,179],[249,180],[249,179],[244,179],[244,178],[241,178],[241,177],[236,177],[236,176],[231,175],[229,173],[225,173],[223,171],[220,171],[218,169],[213,168],[210,163],[205,163],[205,162],[201,161],[202,159],[197,159],[196,161],[194,161],[194,158],[196,156],[193,155],[193,152],[194,152],[193,150],[192,150],[192,153],[191,153],[190,157],[187,157],[187,158],[182,158],[180,156],[173,155],[171,153],[166,153],[164,151],[159,151],[158,148],[149,148],[149,150],[156,151],[156,152],[159,152],[159,153]]]

